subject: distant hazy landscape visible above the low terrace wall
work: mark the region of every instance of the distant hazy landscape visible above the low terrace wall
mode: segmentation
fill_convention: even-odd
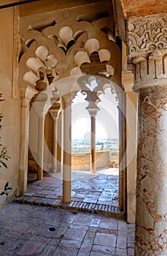
[[[71,151],[72,153],[86,153],[90,152],[90,141],[82,139],[72,139]],[[96,139],[96,151],[118,151],[118,138]]]

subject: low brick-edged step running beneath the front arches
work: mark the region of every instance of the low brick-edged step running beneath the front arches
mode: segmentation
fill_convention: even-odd
[[[91,214],[101,214],[117,219],[125,219],[125,214],[120,211],[117,206],[108,206],[98,203],[84,203],[79,201],[71,201],[71,203],[63,203],[61,199],[43,198],[43,197],[15,197],[14,203],[28,204],[31,206],[47,206],[53,208],[61,208],[76,212],[87,212]]]

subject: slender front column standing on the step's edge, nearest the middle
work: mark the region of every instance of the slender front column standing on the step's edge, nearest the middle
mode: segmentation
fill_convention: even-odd
[[[71,202],[71,94],[63,96],[63,202]]]

